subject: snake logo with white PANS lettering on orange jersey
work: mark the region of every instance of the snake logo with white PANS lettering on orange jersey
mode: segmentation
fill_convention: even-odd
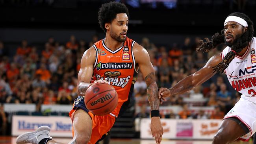
[[[104,73],[104,77],[101,77],[100,75],[96,74],[95,76],[97,80],[105,80],[108,81],[109,85],[114,85],[117,87],[124,88],[127,83],[129,82],[131,76],[127,76],[125,78],[121,77],[121,72],[119,71],[107,71]]]

